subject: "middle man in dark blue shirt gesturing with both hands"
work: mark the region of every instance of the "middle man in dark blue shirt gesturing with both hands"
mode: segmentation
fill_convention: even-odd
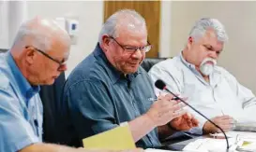
[[[59,115],[59,141],[80,146],[82,139],[128,122],[137,146],[158,147],[158,132],[170,135],[197,126],[172,95],[156,98],[140,67],[151,45],[143,17],[120,10],[104,24],[95,50],[68,76]],[[156,102],[155,102],[156,101]]]

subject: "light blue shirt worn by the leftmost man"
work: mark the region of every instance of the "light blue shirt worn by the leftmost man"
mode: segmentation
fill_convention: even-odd
[[[16,152],[41,142],[39,87],[31,86],[10,52],[0,54],[0,151]]]

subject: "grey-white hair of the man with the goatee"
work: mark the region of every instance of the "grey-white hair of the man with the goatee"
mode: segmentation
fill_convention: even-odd
[[[219,41],[225,42],[228,40],[224,25],[217,19],[211,18],[203,18],[200,21],[197,21],[191,29],[189,36],[198,40],[198,38],[203,37],[205,31],[209,28],[216,32]]]

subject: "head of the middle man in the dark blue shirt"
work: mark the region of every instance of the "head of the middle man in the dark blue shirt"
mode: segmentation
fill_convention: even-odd
[[[115,12],[105,22],[98,42],[108,61],[125,75],[138,71],[145,58],[145,50],[151,48],[143,17],[130,9]]]

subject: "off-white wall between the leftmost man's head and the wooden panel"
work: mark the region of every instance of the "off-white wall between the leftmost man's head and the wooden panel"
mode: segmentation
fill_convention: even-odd
[[[78,43],[71,47],[68,71],[93,51],[98,42],[98,33],[103,22],[102,1],[27,1],[27,18],[43,16],[74,17],[79,20]]]

